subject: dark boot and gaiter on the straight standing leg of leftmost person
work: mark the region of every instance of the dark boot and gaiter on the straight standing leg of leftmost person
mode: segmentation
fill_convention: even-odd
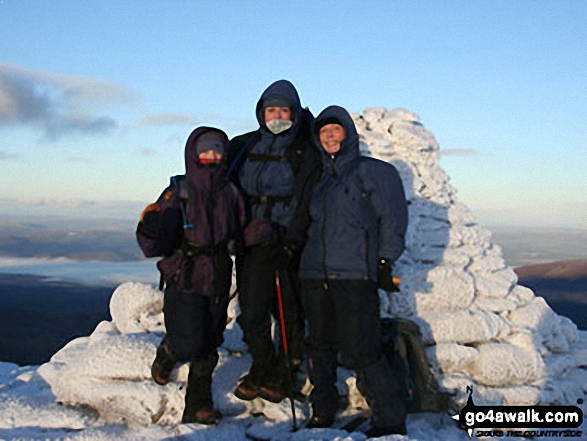
[[[190,363],[182,423],[211,425],[218,424],[222,419],[212,404],[212,372],[217,363],[216,352],[204,360]]]

